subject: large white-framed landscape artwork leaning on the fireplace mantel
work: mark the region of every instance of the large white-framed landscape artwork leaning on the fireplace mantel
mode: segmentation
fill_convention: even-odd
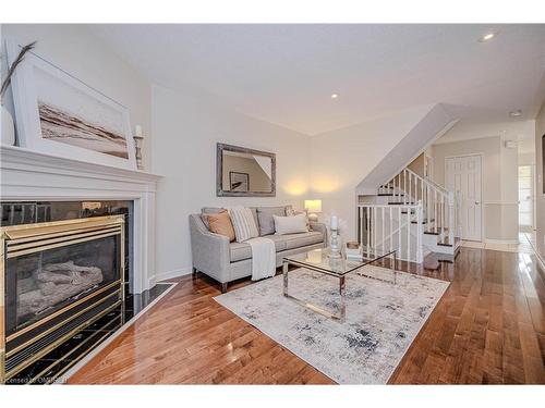
[[[7,40],[9,63],[21,45]],[[136,170],[129,110],[34,51],[11,78],[19,146]]]

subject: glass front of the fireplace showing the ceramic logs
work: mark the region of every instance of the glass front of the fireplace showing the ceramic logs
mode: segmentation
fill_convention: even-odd
[[[7,334],[119,280],[119,236],[40,250],[8,259]]]

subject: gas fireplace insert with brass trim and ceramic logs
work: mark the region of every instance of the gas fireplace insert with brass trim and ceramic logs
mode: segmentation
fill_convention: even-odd
[[[122,307],[124,217],[1,228],[0,381]]]

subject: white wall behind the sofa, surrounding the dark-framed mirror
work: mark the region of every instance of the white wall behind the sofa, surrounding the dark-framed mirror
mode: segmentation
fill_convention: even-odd
[[[153,172],[157,194],[158,280],[191,270],[187,215],[207,206],[287,205],[308,195],[310,138],[219,104],[204,95],[153,86]],[[216,144],[277,154],[277,196],[216,197]]]

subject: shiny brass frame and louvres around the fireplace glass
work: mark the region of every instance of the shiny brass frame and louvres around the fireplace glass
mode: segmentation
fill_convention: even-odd
[[[59,316],[66,310],[80,305],[82,301],[89,300],[93,297],[96,297],[98,294],[104,293],[105,290],[111,288],[113,285],[120,285],[120,289],[112,292],[105,299],[111,298],[114,294],[120,296],[120,300],[118,300],[114,306],[121,305],[123,307],[123,299],[125,296],[125,285],[124,285],[124,217],[123,215],[106,215],[106,217],[95,217],[88,219],[75,219],[75,220],[64,220],[64,221],[55,221],[55,222],[44,222],[36,224],[25,224],[25,225],[10,225],[0,227],[0,384],[4,384],[5,380],[13,376],[24,368],[28,367],[31,363],[39,359],[39,357],[44,356],[44,350],[39,353],[39,357],[29,358],[24,361],[22,364],[19,364],[16,368],[12,369],[9,373],[5,372],[5,343],[8,341],[12,341],[16,338],[19,335],[28,332],[29,330],[45,323],[50,320],[55,316]],[[21,332],[14,333],[10,335],[8,338],[5,337],[5,260],[8,258],[23,256],[26,254],[32,254],[38,250],[52,249],[60,246],[66,246],[71,244],[76,244],[81,242],[94,240],[101,237],[107,236],[120,236],[120,259],[119,259],[119,268],[120,268],[120,280],[96,290],[95,293],[89,294],[89,296],[83,297],[78,299],[76,302],[68,305],[66,307],[58,310],[40,320],[39,322],[35,322],[27,327],[24,327]],[[49,243],[49,245],[40,245],[45,242]],[[97,302],[94,302],[92,306],[86,308],[85,310],[89,310],[90,308],[99,305],[105,299],[101,299]],[[112,307],[109,307],[108,310],[112,310]],[[77,314],[80,316],[80,314]],[[104,312],[100,312],[99,316],[104,316]],[[86,325],[90,324],[96,317],[93,319],[83,322],[77,327],[72,330],[69,334],[74,335],[78,331],[81,331]],[[47,320],[45,320],[47,319]],[[63,322],[56,324],[56,329],[60,325],[66,323],[72,320],[66,319]],[[38,324],[37,324],[38,323]],[[49,332],[49,331],[48,331]],[[68,334],[66,334],[68,335]],[[52,350],[55,347],[60,345],[61,341],[66,341],[69,337],[66,335],[53,342],[51,345],[45,348],[46,354]],[[41,336],[39,336],[41,338]],[[37,338],[25,343],[25,345],[32,344]],[[21,347],[17,347],[21,349]],[[12,353],[10,353],[11,355]],[[24,366],[24,367],[23,367]]]

